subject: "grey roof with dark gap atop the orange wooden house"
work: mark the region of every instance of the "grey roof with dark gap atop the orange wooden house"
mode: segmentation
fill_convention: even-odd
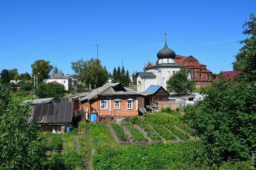
[[[121,87],[120,90],[116,90],[115,87]],[[121,85],[120,83],[106,83],[103,86],[99,87],[98,90],[94,89],[88,93],[87,96],[80,98],[80,101],[90,100],[95,98],[97,95],[100,96],[120,96],[120,95],[141,95],[141,93],[135,92],[131,89],[128,89],[125,85]]]

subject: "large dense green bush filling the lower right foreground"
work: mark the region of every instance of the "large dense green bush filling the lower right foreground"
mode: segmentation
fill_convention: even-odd
[[[228,157],[246,160],[256,150],[256,88],[244,74],[237,81],[221,79],[203,91],[205,98],[186,111],[215,162]]]

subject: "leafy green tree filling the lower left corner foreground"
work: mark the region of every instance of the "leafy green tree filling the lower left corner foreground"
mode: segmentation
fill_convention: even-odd
[[[6,94],[2,96],[1,94]],[[46,143],[38,124],[27,124],[29,105],[11,101],[8,90],[0,85],[0,169],[40,169],[46,159]],[[3,98],[2,98],[3,97]]]

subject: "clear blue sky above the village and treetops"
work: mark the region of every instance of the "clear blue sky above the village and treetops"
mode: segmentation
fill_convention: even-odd
[[[109,72],[122,60],[130,73],[142,71],[156,62],[165,30],[176,54],[229,71],[250,13],[256,0],[1,0],[0,71],[31,73],[45,59],[73,74],[71,61],[96,57],[96,39]]]

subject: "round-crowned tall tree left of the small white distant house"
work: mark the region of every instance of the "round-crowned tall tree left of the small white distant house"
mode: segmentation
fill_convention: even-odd
[[[31,65],[31,68],[32,68],[32,77],[37,74],[38,83],[40,83],[45,78],[49,77],[49,74],[53,69],[53,65],[50,65],[50,61],[45,61],[44,59],[38,59]]]

